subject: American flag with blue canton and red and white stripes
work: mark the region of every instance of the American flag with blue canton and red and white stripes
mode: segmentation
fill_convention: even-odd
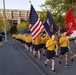
[[[29,23],[29,28],[32,32],[32,39],[35,40],[35,38],[44,30],[44,26],[38,18],[38,15],[32,4],[29,16]]]

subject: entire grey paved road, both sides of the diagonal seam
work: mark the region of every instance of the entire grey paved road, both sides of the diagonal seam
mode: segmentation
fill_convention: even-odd
[[[71,42],[71,49],[74,53],[74,41]],[[44,66],[45,56],[41,55],[42,61],[39,61],[10,38],[9,42],[3,43],[3,47],[0,48],[0,75],[76,75],[76,59],[71,62],[70,56],[71,54],[69,54],[69,68],[64,67],[64,57],[61,65],[56,58],[58,73],[54,74],[51,72],[51,62],[47,67]]]

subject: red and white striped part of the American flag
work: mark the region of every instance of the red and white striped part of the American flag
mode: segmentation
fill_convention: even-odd
[[[31,32],[32,32],[32,39],[35,40],[35,38],[44,30],[44,26],[40,19],[37,20],[37,22],[34,25],[29,26]]]

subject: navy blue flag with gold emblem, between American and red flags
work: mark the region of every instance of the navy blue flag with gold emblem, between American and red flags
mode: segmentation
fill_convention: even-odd
[[[54,22],[49,11],[47,11],[47,20],[44,23],[44,28],[50,37],[58,31],[58,27],[56,26],[56,23]]]

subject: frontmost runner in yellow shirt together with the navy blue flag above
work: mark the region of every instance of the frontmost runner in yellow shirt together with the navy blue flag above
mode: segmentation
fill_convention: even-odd
[[[52,59],[52,71],[56,73],[55,71],[55,50],[58,49],[57,42],[55,40],[55,33],[58,31],[58,28],[49,13],[47,11],[47,20],[44,23],[44,27],[48,35],[50,36],[50,39],[46,42],[46,61],[45,61],[45,67],[47,66],[47,63]]]

